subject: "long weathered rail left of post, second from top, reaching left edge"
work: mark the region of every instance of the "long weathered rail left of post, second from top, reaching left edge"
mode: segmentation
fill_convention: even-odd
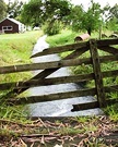
[[[23,64],[23,65],[12,65],[0,68],[0,74],[16,73],[25,71],[45,70],[45,69],[59,69],[63,66],[81,65],[82,63],[91,64],[91,59],[70,59],[52,62]]]

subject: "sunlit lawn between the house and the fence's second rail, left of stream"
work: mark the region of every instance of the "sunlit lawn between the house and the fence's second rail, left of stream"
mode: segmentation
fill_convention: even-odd
[[[1,65],[30,62],[33,46],[40,34],[39,32],[26,32],[0,35]]]

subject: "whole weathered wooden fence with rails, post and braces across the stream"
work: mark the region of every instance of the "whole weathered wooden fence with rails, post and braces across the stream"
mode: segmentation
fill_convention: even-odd
[[[108,62],[118,63],[118,39],[105,39],[96,40],[91,39],[84,42],[76,42],[72,45],[66,45],[60,47],[54,47],[38,52],[32,58],[49,56],[54,53],[61,53],[70,51],[66,58],[60,61],[45,62],[45,63],[32,63],[32,64],[21,64],[21,65],[11,65],[11,66],[0,66],[0,74],[17,73],[17,72],[27,72],[35,70],[43,70],[40,73],[35,75],[33,78],[25,82],[10,82],[1,83],[0,90],[7,90],[8,94],[1,98],[5,99],[8,105],[26,105],[34,102],[43,102],[66,98],[74,98],[82,96],[95,96],[96,100],[88,103],[80,103],[73,106],[73,111],[92,109],[92,108],[104,108],[108,103],[118,102],[118,99],[107,98],[107,93],[118,91],[118,85],[108,85],[105,86],[103,79],[106,77],[117,77],[118,69],[114,71],[102,71],[102,64]],[[99,56],[98,50],[107,52],[107,56]],[[81,58],[86,51],[90,51],[88,58]],[[63,66],[79,66],[79,65],[92,65],[93,72],[86,74],[78,74],[62,77],[49,77],[46,78],[51,73],[56,72]],[[57,85],[66,83],[81,83],[94,81],[95,86],[92,88],[82,88],[73,91],[48,94],[43,96],[27,96],[16,98],[17,95],[25,91],[31,87],[36,86],[47,86],[47,85]]]

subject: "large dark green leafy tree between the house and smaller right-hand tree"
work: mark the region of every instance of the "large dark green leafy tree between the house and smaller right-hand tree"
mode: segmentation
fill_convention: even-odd
[[[71,4],[68,0],[31,0],[23,7],[22,20],[32,26],[47,23],[51,28],[55,23],[66,22],[70,9]]]

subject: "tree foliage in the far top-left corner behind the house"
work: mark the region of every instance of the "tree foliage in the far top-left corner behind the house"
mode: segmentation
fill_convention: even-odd
[[[0,21],[7,16],[7,4],[3,0],[0,0]]]

